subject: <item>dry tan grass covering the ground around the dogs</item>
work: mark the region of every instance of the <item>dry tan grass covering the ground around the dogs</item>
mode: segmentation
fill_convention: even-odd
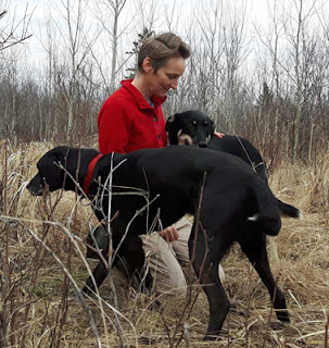
[[[81,286],[88,272],[77,247],[69,243],[67,231],[80,239],[87,235],[87,223],[94,222],[90,207],[76,204],[72,192],[52,194],[43,201],[25,189],[36,173],[37,160],[50,148],[49,142],[28,144],[20,149],[0,144],[0,157],[8,159],[7,169],[0,167],[0,318],[4,320],[0,330],[7,328],[7,344],[12,347],[97,347],[86,310],[79,306],[72,284],[65,281],[62,266],[30,234],[42,236]],[[102,300],[86,300],[101,346],[122,345],[111,308],[117,300],[123,315],[118,320],[121,332],[130,347],[168,347],[169,338],[172,346],[180,343],[180,347],[329,347],[328,338],[325,341],[329,315],[329,156],[313,166],[281,166],[273,174],[270,186],[280,199],[304,213],[300,221],[283,220],[276,238],[279,258],[270,262],[287,297],[290,325],[275,320],[264,285],[235,247],[223,262],[227,274],[224,285],[231,301],[249,315],[231,313],[225,322],[229,335],[217,343],[202,341],[208,310],[201,293],[189,320],[184,320],[190,338],[180,341],[182,327],[178,327],[176,340],[173,339],[185,297],[164,296],[160,298],[161,309],[151,311],[152,299],[137,294],[113,270],[116,298],[109,277],[101,287]],[[77,246],[85,253],[84,244],[77,241]]]

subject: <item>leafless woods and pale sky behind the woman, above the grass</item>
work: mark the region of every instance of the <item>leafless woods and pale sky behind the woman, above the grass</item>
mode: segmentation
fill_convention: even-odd
[[[200,109],[273,161],[328,150],[327,2],[39,2],[0,1],[0,138],[84,145],[142,40],[172,30],[192,57],[166,116]]]

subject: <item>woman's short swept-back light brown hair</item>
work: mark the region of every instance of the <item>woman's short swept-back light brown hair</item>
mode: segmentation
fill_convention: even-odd
[[[143,72],[143,61],[150,58],[152,67],[157,69],[165,65],[170,58],[181,57],[188,59],[191,55],[190,47],[182,39],[173,34],[164,33],[144,40],[138,53],[138,70]]]

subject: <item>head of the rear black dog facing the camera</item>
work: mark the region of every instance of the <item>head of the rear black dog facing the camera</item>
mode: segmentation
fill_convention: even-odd
[[[214,135],[214,122],[199,110],[188,110],[182,113],[175,113],[166,122],[166,132],[170,145],[178,144],[178,132],[190,136],[192,145],[206,148],[207,142]]]

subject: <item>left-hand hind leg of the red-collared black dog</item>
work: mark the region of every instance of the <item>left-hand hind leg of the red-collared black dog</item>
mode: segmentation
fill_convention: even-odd
[[[211,256],[207,253],[203,233],[198,234],[194,244],[194,234],[189,239],[189,253],[194,271],[202,288],[207,297],[210,306],[210,321],[204,339],[216,339],[222,331],[223,323],[230,309],[230,302],[225,294],[218,277],[218,262],[212,263]]]

